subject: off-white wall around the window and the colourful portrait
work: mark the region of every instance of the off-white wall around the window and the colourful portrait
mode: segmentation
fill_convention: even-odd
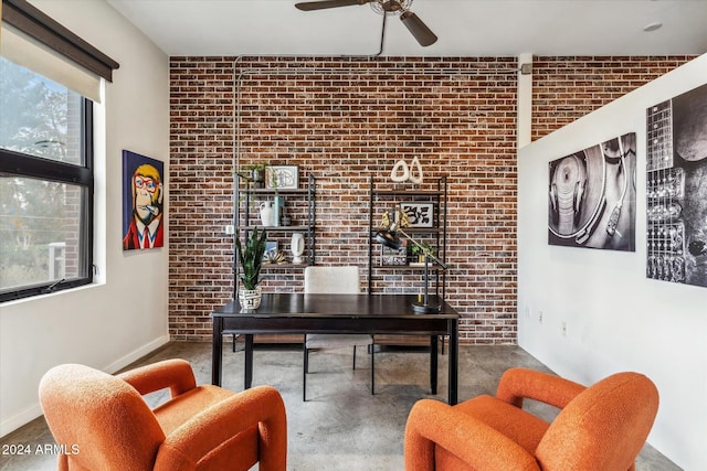
[[[38,385],[53,365],[115,372],[169,340],[168,239],[122,248],[122,151],[169,165],[168,57],[104,1],[32,0],[120,64],[97,113],[97,282],[0,306],[0,436],[41,415]],[[169,213],[168,213],[169,217]]]

